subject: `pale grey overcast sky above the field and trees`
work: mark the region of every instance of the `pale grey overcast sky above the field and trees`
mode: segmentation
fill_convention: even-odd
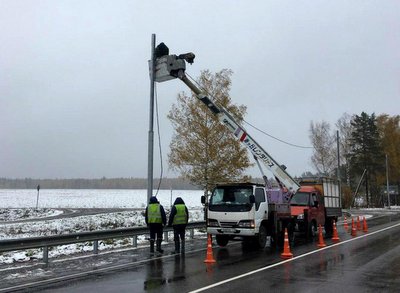
[[[232,69],[246,120],[294,144],[310,145],[311,121],[400,114],[397,0],[1,0],[0,177],[145,178],[152,33],[196,54],[193,77]],[[180,91],[157,85],[168,177]],[[293,176],[312,170],[311,150],[247,130]]]

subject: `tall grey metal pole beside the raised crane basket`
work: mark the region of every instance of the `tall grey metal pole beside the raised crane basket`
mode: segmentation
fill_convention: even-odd
[[[155,73],[155,52],[156,35],[151,35],[151,59],[150,66],[150,114],[149,114],[149,142],[147,158],[147,202],[153,194],[153,151],[154,151],[154,73]]]

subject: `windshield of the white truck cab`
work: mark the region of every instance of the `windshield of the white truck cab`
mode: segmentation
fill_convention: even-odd
[[[214,189],[209,203],[211,211],[250,211],[250,195],[253,194],[251,186],[223,186]]]

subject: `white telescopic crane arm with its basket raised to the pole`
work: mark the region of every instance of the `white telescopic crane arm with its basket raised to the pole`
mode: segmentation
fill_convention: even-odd
[[[191,62],[187,61],[187,56],[190,56]],[[300,186],[284,170],[284,168],[282,168],[224,108],[218,107],[205,93],[203,93],[187,78],[185,75],[185,60],[189,63],[193,63],[193,59],[193,53],[182,54],[179,56],[165,55],[157,58],[155,81],[163,82],[173,78],[179,78],[182,80],[196,94],[196,97],[218,117],[218,120],[247,147],[256,159],[257,163],[262,162],[290,193],[295,193]]]

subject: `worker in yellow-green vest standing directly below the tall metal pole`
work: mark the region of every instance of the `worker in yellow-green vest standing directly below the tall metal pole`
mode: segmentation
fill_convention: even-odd
[[[156,250],[163,253],[161,249],[162,234],[167,216],[165,215],[164,207],[160,204],[155,196],[150,198],[149,205],[146,207],[144,216],[146,225],[150,229],[150,253],[154,253],[154,242],[156,242]]]

